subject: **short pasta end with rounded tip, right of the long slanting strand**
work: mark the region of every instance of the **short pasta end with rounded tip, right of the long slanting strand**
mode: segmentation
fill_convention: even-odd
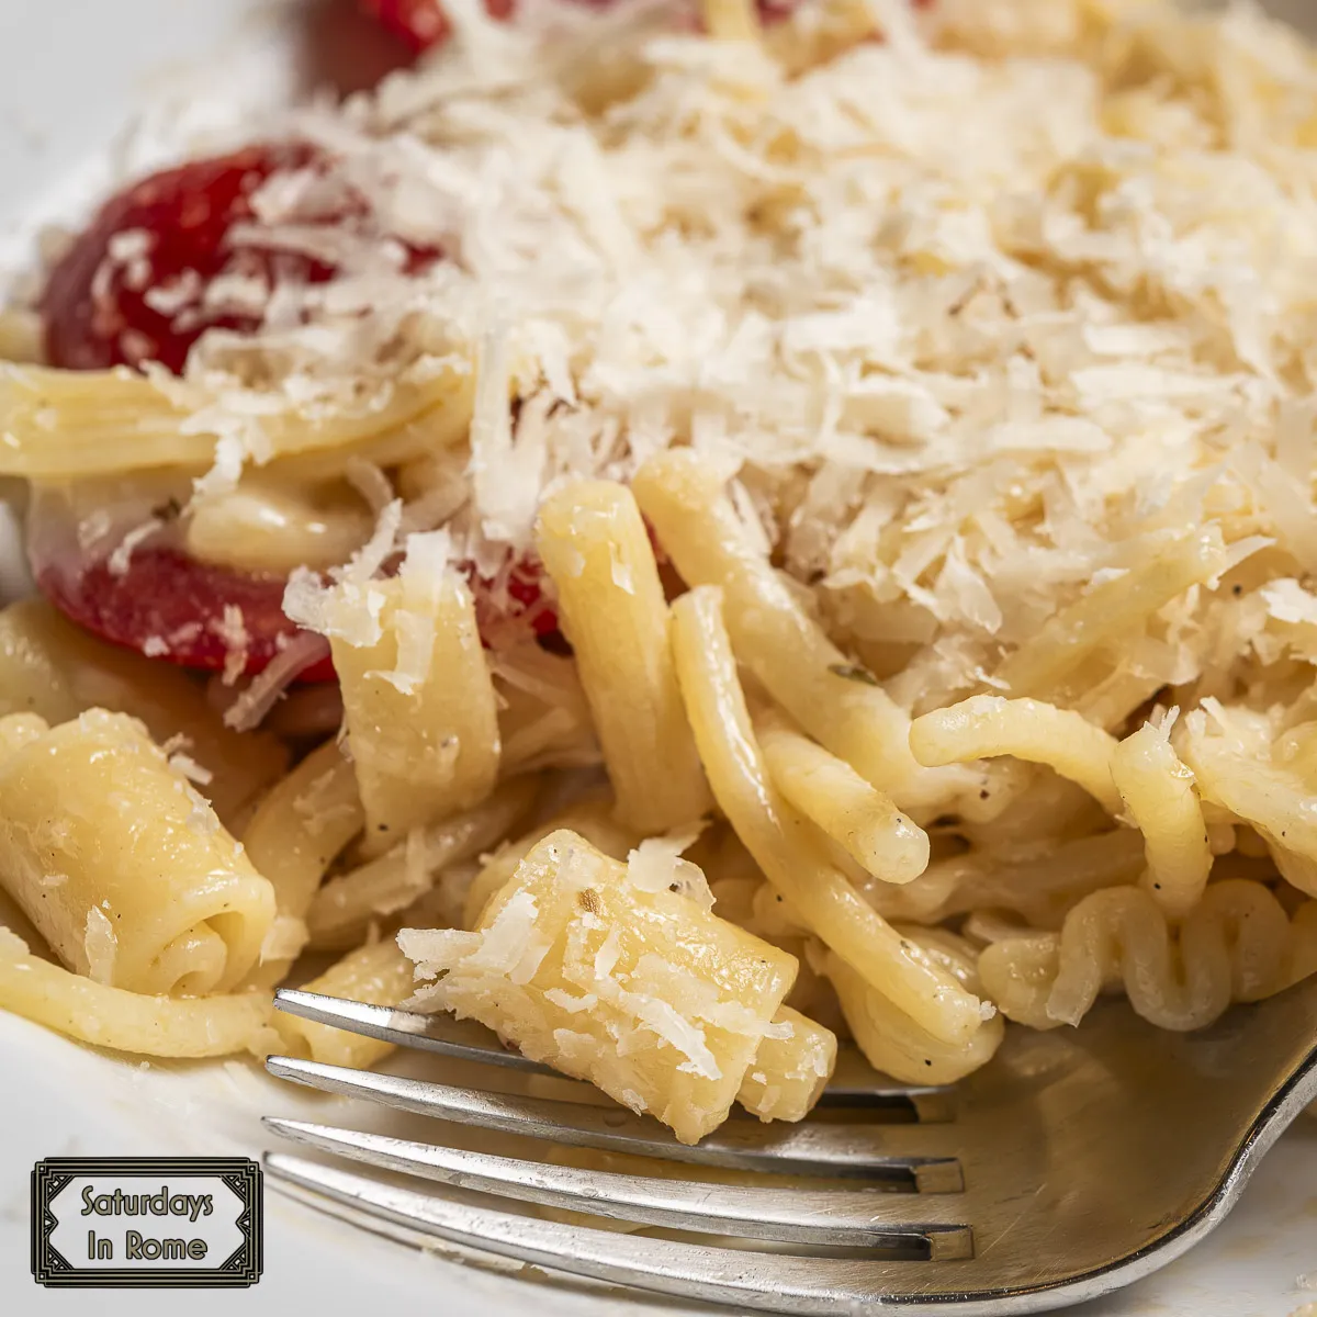
[[[909,882],[928,865],[928,834],[844,760],[769,714],[755,722],[773,785],[865,872]]]

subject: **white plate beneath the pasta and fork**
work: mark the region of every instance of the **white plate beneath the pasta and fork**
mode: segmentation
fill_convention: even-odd
[[[0,0],[0,283],[37,224],[87,204],[112,153],[146,165],[180,126],[236,104],[278,103],[312,66],[374,59],[352,0]],[[1292,12],[1303,11],[1293,0]],[[307,14],[316,21],[307,24]],[[1310,13],[1310,11],[1309,11]],[[126,126],[145,115],[145,129]],[[29,1274],[32,1164],[58,1155],[255,1155],[257,1115],[366,1125],[371,1113],[306,1098],[245,1063],[138,1067],[0,1013],[0,1313],[232,1312],[337,1317],[387,1303],[485,1317],[666,1313],[591,1287],[533,1283],[497,1262],[423,1254],[266,1196],[266,1272],[249,1292],[38,1289]],[[1310,1276],[1310,1280],[1305,1280]],[[1309,1288],[1310,1287],[1310,1288]],[[1317,1121],[1271,1154],[1205,1245],[1089,1317],[1287,1317],[1317,1301]],[[707,1309],[705,1309],[707,1312]]]

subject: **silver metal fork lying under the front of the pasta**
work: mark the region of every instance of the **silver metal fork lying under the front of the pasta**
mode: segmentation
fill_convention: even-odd
[[[446,1017],[290,990],[277,1006],[456,1060],[556,1073]],[[1127,1285],[1226,1216],[1262,1155],[1317,1098],[1317,979],[1195,1034],[1155,1030],[1114,1000],[1077,1030],[1010,1029],[992,1064],[954,1089],[885,1083],[846,1058],[820,1108],[851,1123],[730,1119],[694,1147],[620,1106],[288,1056],[266,1064],[298,1084],[441,1121],[806,1181],[741,1187],[577,1169],[267,1117],[271,1130],[320,1152],[684,1237],[545,1221],[266,1154],[279,1188],[377,1233],[437,1237],[743,1310],[997,1317]],[[732,1237],[735,1247],[690,1234]]]

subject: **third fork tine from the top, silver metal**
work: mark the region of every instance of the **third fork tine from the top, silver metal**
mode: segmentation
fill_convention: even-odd
[[[266,1117],[265,1123],[284,1138],[387,1171],[672,1230],[871,1250],[922,1247],[939,1260],[973,1254],[968,1226],[930,1222],[927,1200],[910,1195],[660,1180],[435,1147],[304,1121]]]

